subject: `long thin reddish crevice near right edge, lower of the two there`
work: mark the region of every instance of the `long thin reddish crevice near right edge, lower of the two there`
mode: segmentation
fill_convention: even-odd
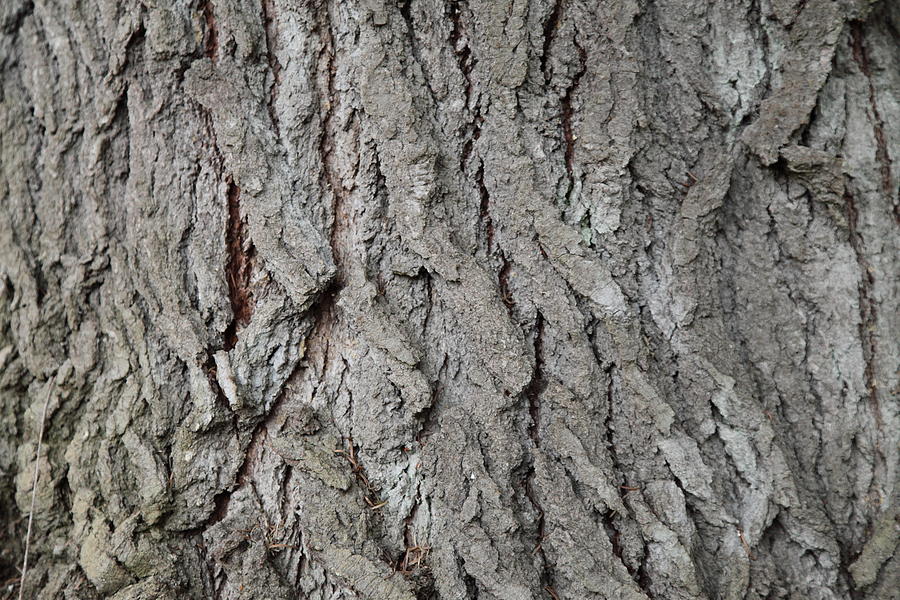
[[[881,410],[878,402],[878,386],[875,376],[875,356],[878,350],[876,323],[878,320],[877,304],[874,299],[875,272],[869,259],[866,258],[862,237],[859,234],[859,208],[856,199],[849,190],[844,192],[844,204],[847,207],[847,227],[850,232],[850,246],[856,254],[859,265],[859,337],[862,340],[863,360],[865,361],[866,390],[869,403],[875,416],[875,426],[881,430]]]

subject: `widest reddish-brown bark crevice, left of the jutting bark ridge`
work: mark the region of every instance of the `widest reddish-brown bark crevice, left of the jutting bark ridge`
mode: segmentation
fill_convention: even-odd
[[[228,281],[228,298],[231,301],[234,318],[225,330],[225,350],[231,350],[237,343],[238,329],[247,325],[253,314],[250,277],[256,250],[247,238],[241,217],[241,190],[230,177],[227,184],[228,222],[225,229],[225,247],[228,262],[225,265],[225,278]]]

